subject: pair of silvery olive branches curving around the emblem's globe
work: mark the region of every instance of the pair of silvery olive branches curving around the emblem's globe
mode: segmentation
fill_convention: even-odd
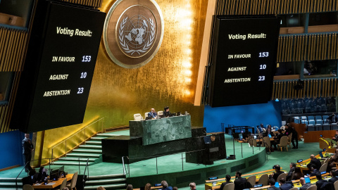
[[[141,46],[142,49],[137,49],[137,50],[130,49],[127,42],[125,42],[125,37],[123,37],[123,33],[124,33],[124,30],[125,30],[125,24],[127,23],[127,21],[128,21],[128,17],[124,18],[122,20],[122,22],[120,23],[120,27],[118,29],[118,39],[119,39],[120,45],[121,45],[122,49],[125,51],[125,53],[130,53],[130,55],[132,55],[133,53],[136,52],[136,53],[139,53],[139,55],[140,55],[141,53],[146,52],[154,42],[154,39],[155,39],[154,20],[149,18],[149,23],[151,25],[151,35],[150,35],[148,42],[146,42],[144,44],[144,46]]]

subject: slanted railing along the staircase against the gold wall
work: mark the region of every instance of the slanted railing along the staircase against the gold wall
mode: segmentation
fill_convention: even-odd
[[[96,124],[96,122],[100,122],[100,121],[101,121],[101,125],[94,125],[94,124]],[[103,132],[103,131],[104,131],[104,118],[101,118],[101,119],[96,120],[96,121],[92,122],[91,124],[83,127],[82,129],[78,130],[77,132],[75,132],[74,134],[72,134],[67,139],[64,139],[63,141],[60,141],[58,144],[56,144],[53,147],[51,147],[51,158],[52,158],[51,164],[53,164],[54,160],[56,160],[57,158],[60,158],[63,155],[65,157],[67,157],[67,153],[69,151],[72,151],[75,147],[77,147],[78,145],[80,145],[80,144],[84,143],[85,141],[87,141],[87,139],[89,137],[94,136],[94,134],[97,134],[97,133]],[[87,132],[87,134],[86,134],[86,132]],[[78,141],[78,139],[80,139],[80,142],[78,142],[74,147],[68,149],[67,148],[67,141],[70,140],[70,139],[71,139],[71,142]],[[64,144],[64,148],[62,146],[60,146],[60,145],[63,145],[63,144]],[[69,144],[68,144],[68,146],[69,146]],[[59,150],[58,152],[61,152],[61,155],[56,156],[56,158],[54,158],[54,154],[55,154],[54,150],[55,149],[58,149]],[[62,152],[63,152],[62,149],[64,149],[64,154],[62,154]]]

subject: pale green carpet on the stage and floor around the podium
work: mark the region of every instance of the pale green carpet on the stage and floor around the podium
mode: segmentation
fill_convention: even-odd
[[[123,130],[119,132],[111,132],[111,134],[119,134],[119,135],[127,135],[129,134],[129,130]],[[260,152],[258,147],[250,148],[248,144],[241,144],[235,142],[234,147],[232,143],[232,139],[230,136],[225,136],[226,139],[226,149],[227,149],[227,156],[230,154],[235,153],[237,160],[242,159],[242,148],[243,148],[243,157],[250,157],[253,154]],[[234,152],[233,152],[234,151]],[[261,148],[263,151],[263,148]],[[289,163],[296,162],[299,159],[308,159],[311,154],[318,154],[320,151],[318,143],[307,143],[304,144],[302,141],[299,141],[299,149],[289,149],[289,151],[275,151],[270,153],[267,156],[268,160],[251,172],[258,172],[263,170],[270,170],[272,169],[273,165],[279,164],[283,167],[283,170],[289,170]],[[168,172],[180,172],[182,171],[182,156],[185,158],[184,153],[177,153],[170,156],[163,156],[157,159],[158,173],[168,173]],[[218,160],[215,161],[214,165],[222,165],[224,163],[230,163],[236,160]],[[213,165],[213,166],[214,166]],[[58,168],[58,165],[51,165],[51,169]],[[197,168],[204,168],[208,167],[206,165],[197,165],[193,163],[185,163],[183,162],[183,170],[195,170]],[[49,166],[47,166],[49,168]],[[6,170],[0,172],[0,177],[17,177],[20,170],[23,167],[16,167],[11,170]],[[79,171],[78,166],[65,166],[65,170],[67,172],[76,172]],[[84,166],[80,167],[80,174],[84,173]],[[87,173],[87,172],[86,172]],[[109,175],[109,174],[121,174],[123,173],[123,166],[122,164],[118,163],[98,163],[96,165],[89,166],[89,177],[90,175]],[[25,177],[27,174],[23,172],[20,177]],[[130,177],[137,177],[137,176],[145,176],[145,175],[156,175],[156,158],[152,158],[149,160],[143,160],[137,163],[130,164]],[[168,182],[170,184],[170,182]],[[175,184],[171,184],[175,186]],[[184,190],[189,189],[189,184],[187,184],[186,188],[180,188]],[[197,189],[204,189],[204,184],[200,184],[197,186]]]

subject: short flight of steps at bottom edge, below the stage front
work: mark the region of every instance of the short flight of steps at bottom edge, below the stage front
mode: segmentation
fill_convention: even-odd
[[[96,190],[99,186],[103,186],[104,189],[125,189],[127,186],[126,177],[123,174],[118,175],[98,175],[89,176],[87,179],[85,190]]]

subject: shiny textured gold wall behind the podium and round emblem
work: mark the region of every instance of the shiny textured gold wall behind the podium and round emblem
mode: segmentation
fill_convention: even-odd
[[[105,0],[101,11],[108,13],[114,2]],[[187,110],[192,115],[192,126],[203,125],[204,106],[193,106],[193,102],[208,1],[156,2],[163,13],[164,37],[154,59],[142,68],[121,68],[108,57],[102,39],[84,124],[46,131],[42,158],[48,157],[50,146],[94,118],[105,118],[106,128],[128,125],[134,113],[143,116],[151,108],[158,111],[170,106],[170,112]],[[42,148],[42,132],[37,136],[38,150]]]

